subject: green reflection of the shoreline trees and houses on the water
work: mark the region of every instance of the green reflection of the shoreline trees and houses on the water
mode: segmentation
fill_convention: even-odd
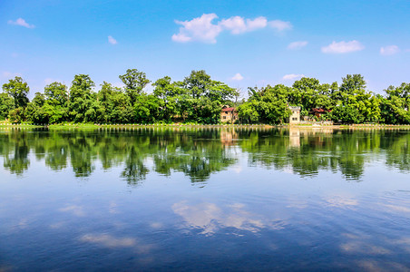
[[[125,131],[27,131],[3,129],[0,157],[5,170],[21,175],[30,153],[51,170],[73,169],[88,177],[95,163],[104,170],[121,166],[121,177],[136,185],[150,170],[164,176],[179,171],[192,182],[227,170],[247,157],[249,166],[291,170],[302,177],[339,170],[346,180],[360,180],[365,164],[382,160],[410,170],[409,131],[348,131],[290,128],[134,128]],[[153,162],[147,166],[147,160]]]

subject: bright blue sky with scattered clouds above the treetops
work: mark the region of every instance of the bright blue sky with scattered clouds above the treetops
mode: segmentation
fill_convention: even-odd
[[[347,73],[368,89],[410,82],[410,1],[0,1],[0,84],[34,92],[74,74],[121,85],[204,69],[238,87]]]

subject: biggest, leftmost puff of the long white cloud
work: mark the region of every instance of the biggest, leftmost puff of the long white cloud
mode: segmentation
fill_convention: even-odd
[[[190,41],[200,41],[204,43],[215,44],[215,39],[222,28],[218,24],[212,24],[214,19],[218,18],[215,14],[202,15],[198,18],[193,18],[190,21],[175,21],[176,24],[181,24],[179,34],[172,35],[172,41],[179,43],[187,43]]]

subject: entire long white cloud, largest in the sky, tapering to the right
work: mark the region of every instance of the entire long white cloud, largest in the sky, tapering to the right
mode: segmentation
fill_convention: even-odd
[[[203,43],[215,44],[217,36],[223,31],[229,31],[230,34],[243,34],[246,32],[255,31],[265,28],[270,25],[278,31],[284,31],[292,28],[289,22],[280,20],[270,21],[264,16],[259,16],[255,19],[246,19],[240,16],[232,16],[228,19],[222,19],[219,22],[214,22],[218,16],[215,14],[201,15],[193,18],[190,21],[178,21],[176,24],[181,24],[180,32],[173,34],[171,39],[178,43],[188,43],[199,41]]]

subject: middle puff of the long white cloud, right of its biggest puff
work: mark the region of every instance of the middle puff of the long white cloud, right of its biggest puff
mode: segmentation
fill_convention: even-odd
[[[264,28],[268,24],[268,20],[260,16],[253,20],[244,19],[240,16],[233,16],[229,19],[220,21],[219,25],[226,30],[229,30],[231,34],[241,34],[244,32],[254,31],[259,28]]]

